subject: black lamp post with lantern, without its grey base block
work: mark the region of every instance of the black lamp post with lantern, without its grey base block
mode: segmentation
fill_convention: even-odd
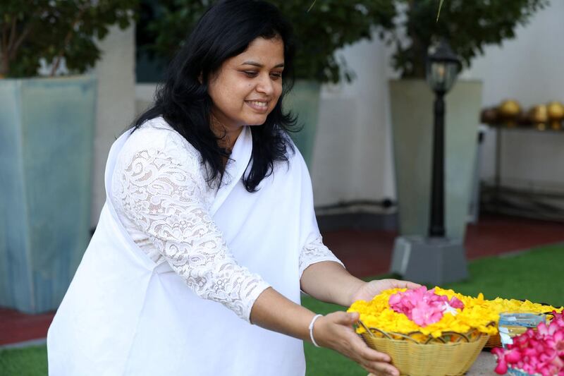
[[[427,56],[427,82],[435,92],[433,169],[431,183],[431,217],[429,237],[445,236],[444,227],[444,162],[445,162],[445,102],[444,96],[453,87],[462,64],[446,41],[441,42],[434,54]]]

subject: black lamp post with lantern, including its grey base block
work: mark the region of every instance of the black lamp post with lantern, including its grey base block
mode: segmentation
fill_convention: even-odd
[[[427,56],[427,82],[435,92],[429,231],[426,237],[396,238],[391,266],[391,272],[412,281],[439,285],[468,276],[462,240],[446,238],[444,226],[444,96],[453,87],[460,68],[460,59],[445,41]]]

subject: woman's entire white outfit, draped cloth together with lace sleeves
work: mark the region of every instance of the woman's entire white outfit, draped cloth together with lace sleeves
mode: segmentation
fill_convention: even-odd
[[[209,188],[162,119],[114,142],[106,203],[47,334],[49,375],[305,375],[302,341],[250,325],[250,308],[267,286],[299,304],[303,269],[338,260],[300,153],[255,193],[241,181],[251,154],[245,127]]]

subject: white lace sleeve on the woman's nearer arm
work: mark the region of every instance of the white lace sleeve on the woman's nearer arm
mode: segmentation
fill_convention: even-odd
[[[137,150],[122,165],[118,200],[190,289],[250,321],[253,303],[269,285],[235,261],[207,212],[205,181],[193,171],[198,164],[178,155]]]

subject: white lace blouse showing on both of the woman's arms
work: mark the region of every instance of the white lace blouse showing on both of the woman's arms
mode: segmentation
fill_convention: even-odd
[[[130,237],[157,264],[168,262],[201,298],[250,320],[253,303],[269,287],[238,265],[209,215],[218,184],[206,181],[200,153],[162,119],[133,132],[118,154],[111,200]],[[321,235],[300,253],[302,272],[339,261]],[[342,263],[341,263],[342,265]]]

